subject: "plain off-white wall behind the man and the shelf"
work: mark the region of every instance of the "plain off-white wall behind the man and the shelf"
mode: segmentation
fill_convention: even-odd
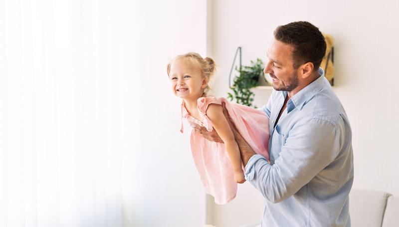
[[[399,3],[362,1],[212,1],[209,56],[219,65],[214,90],[228,91],[228,73],[235,49],[243,64],[260,57],[277,25],[307,20],[335,38],[335,87],[353,130],[355,189],[399,195]],[[255,103],[266,103],[271,90],[256,90]],[[209,221],[234,227],[260,220],[263,199],[249,184],[225,206],[209,203]],[[208,200],[209,202],[210,200]]]

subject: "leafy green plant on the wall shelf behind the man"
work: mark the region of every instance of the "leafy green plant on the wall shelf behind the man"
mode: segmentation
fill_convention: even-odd
[[[263,62],[257,58],[256,61],[251,61],[249,66],[235,67],[235,70],[239,74],[234,78],[233,85],[230,87],[233,94],[227,92],[227,98],[230,101],[235,98],[239,104],[252,106],[255,94],[250,89],[258,84],[260,77],[263,78]]]

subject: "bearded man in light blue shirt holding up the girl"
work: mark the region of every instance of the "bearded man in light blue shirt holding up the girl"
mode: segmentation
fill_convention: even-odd
[[[292,22],[274,31],[264,68],[274,90],[262,108],[270,119],[270,163],[253,152],[230,122],[245,179],[266,201],[262,227],[351,225],[352,132],[319,69],[325,51],[323,35],[309,22]],[[229,119],[227,111],[225,115]],[[215,132],[196,130],[218,141]]]

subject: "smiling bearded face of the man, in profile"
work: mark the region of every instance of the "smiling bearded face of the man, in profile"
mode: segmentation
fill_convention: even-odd
[[[276,91],[292,91],[299,84],[298,69],[294,69],[291,58],[293,49],[292,45],[273,39],[267,50],[269,61],[263,72],[270,74]]]

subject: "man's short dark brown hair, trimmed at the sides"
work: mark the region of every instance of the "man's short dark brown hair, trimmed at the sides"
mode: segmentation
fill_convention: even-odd
[[[313,71],[317,71],[326,54],[326,41],[319,28],[307,21],[297,21],[278,26],[274,30],[274,38],[291,44],[294,68],[301,64],[312,62]]]

